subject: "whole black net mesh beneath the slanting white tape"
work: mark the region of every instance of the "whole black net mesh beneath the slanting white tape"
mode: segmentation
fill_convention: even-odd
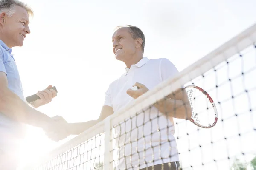
[[[184,85],[197,85],[212,97],[218,110],[214,127],[204,129],[189,120],[172,119],[168,113],[175,114],[178,108],[161,113],[155,108],[159,101],[139,105],[141,111],[121,115],[122,121],[111,126],[110,138],[99,134],[87,139],[35,170],[103,170],[108,162],[104,160],[110,160],[109,168],[114,170],[176,169],[177,163],[169,163],[176,161],[183,170],[256,169],[255,78],[256,46],[252,44]],[[199,100],[192,91],[187,94],[192,102]],[[200,103],[205,111],[211,108],[207,102]],[[196,115],[192,118],[198,120]],[[151,167],[154,164],[160,165]]]

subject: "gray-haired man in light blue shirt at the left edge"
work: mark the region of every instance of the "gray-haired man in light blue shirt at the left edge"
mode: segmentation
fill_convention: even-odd
[[[0,170],[15,170],[26,124],[52,130],[65,121],[55,121],[37,111],[55,97],[48,86],[38,91],[40,99],[25,102],[12,47],[22,46],[29,30],[29,15],[33,11],[19,0],[0,0]],[[54,138],[54,136],[52,136]]]

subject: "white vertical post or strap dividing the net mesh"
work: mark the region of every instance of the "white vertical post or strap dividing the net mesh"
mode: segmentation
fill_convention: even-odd
[[[113,169],[112,166],[112,159],[113,154],[112,153],[112,140],[111,140],[111,116],[108,116],[104,120],[104,131],[105,131],[105,137],[104,137],[104,169],[105,170],[111,170]]]

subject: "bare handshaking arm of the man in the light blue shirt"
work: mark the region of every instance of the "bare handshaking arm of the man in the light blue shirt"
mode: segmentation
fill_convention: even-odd
[[[0,72],[0,112],[11,119],[36,127],[44,127],[51,118],[30,107],[9,90],[6,74]]]

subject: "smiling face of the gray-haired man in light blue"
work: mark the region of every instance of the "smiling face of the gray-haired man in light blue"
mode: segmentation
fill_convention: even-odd
[[[0,14],[1,40],[9,47],[22,46],[29,30],[29,14],[26,9],[15,6],[11,17]]]

